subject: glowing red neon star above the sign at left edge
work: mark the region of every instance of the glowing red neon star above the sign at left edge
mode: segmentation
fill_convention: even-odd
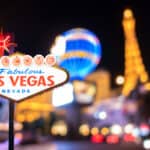
[[[16,46],[15,43],[11,42],[10,35],[4,35],[3,32],[0,33],[0,56],[4,55],[4,51],[9,53],[9,48],[11,46]]]

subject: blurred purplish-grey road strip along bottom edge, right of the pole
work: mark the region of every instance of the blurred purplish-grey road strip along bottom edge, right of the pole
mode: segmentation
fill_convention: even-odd
[[[144,150],[133,144],[92,144],[90,142],[54,142],[39,145],[17,146],[15,150]]]

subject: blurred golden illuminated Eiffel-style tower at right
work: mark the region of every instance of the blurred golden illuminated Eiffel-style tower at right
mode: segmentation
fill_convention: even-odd
[[[136,21],[130,9],[124,11],[122,23],[125,36],[125,84],[122,93],[127,96],[135,88],[138,80],[141,83],[148,80],[148,74],[136,38]]]

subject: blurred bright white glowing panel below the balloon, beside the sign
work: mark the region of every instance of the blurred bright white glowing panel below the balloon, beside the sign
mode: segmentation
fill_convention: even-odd
[[[52,104],[55,107],[69,104],[73,99],[73,86],[71,83],[66,83],[52,91]]]

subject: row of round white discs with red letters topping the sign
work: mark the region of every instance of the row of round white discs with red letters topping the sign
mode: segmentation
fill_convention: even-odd
[[[19,67],[19,66],[31,66],[32,64],[35,64],[37,66],[41,66],[41,65],[48,65],[48,66],[53,66],[56,63],[56,57],[52,54],[48,54],[47,56],[43,56],[43,55],[35,55],[34,57],[30,56],[30,55],[15,55],[12,57],[9,56],[2,56],[0,58],[0,64],[3,67],[9,67],[11,66],[15,66],[15,67]]]

